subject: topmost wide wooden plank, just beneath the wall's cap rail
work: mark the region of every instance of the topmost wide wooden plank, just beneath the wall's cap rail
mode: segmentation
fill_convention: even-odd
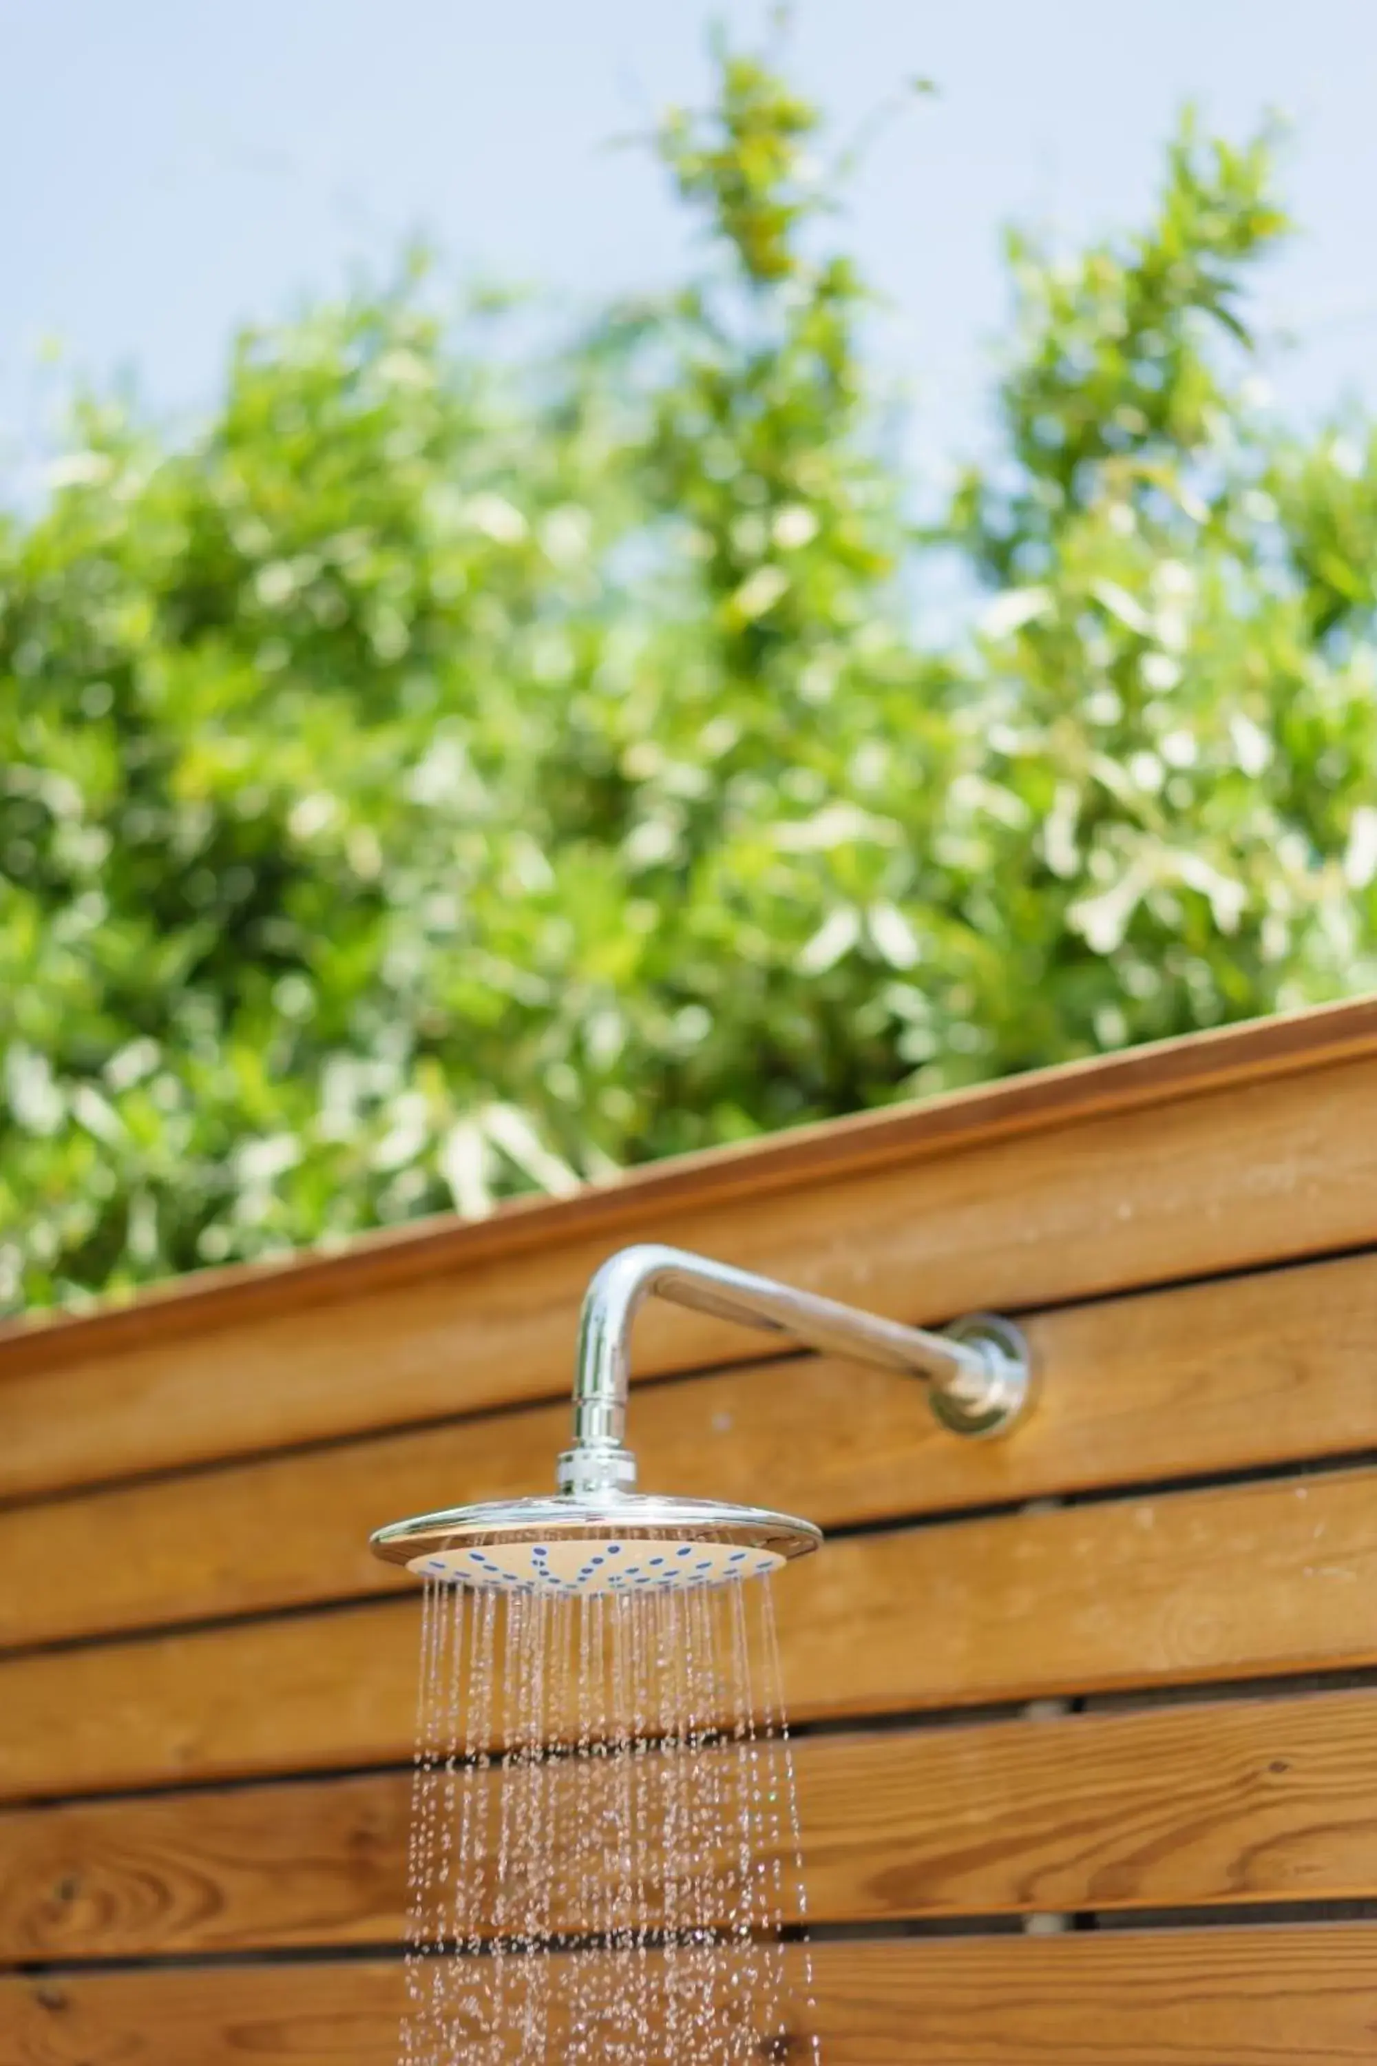
[[[570,1217],[531,1213],[504,1252],[469,1229],[413,1279],[345,1258],[289,1304],[239,1283],[149,1308],[147,1328],[19,1333],[0,1343],[0,1496],[557,1397],[588,1277],[632,1233],[925,1322],[1354,1248],[1377,1231],[1377,1058],[1319,1058],[1173,1103],[1092,1099],[1051,1130],[958,1132],[960,1151],[919,1132],[859,1165],[824,1155],[776,1190],[733,1161],[723,1184],[646,1186],[634,1225],[574,1200]],[[642,1322],[644,1372],[756,1355],[751,1335],[700,1314],[657,1306]]]

